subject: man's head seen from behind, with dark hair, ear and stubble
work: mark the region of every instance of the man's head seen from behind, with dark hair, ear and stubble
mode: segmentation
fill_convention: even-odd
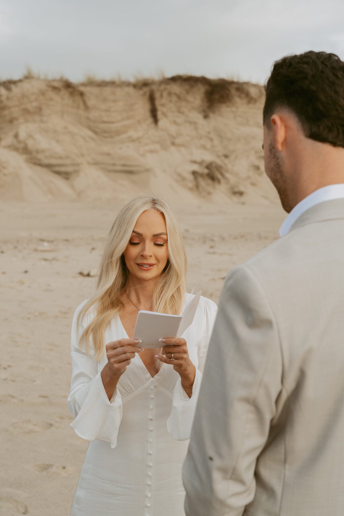
[[[312,169],[311,156],[320,152],[323,159],[329,149],[344,148],[344,62],[313,51],[276,61],[266,85],[263,122],[266,173],[290,212],[298,202],[293,174],[306,164]],[[313,190],[316,175],[307,179],[314,182]]]

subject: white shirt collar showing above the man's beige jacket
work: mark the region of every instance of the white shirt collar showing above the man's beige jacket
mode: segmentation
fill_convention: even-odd
[[[335,199],[344,198],[344,184],[328,185],[323,188],[319,188],[315,192],[311,193],[308,197],[305,197],[299,204],[297,204],[289,213],[288,217],[283,222],[280,235],[284,236],[289,233],[291,226],[307,209],[312,208],[316,204],[320,204],[324,201],[333,201]]]

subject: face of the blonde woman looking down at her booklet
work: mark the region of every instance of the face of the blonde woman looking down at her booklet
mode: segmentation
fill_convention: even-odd
[[[148,209],[136,221],[132,236],[124,251],[130,275],[140,280],[158,278],[168,259],[165,217]]]

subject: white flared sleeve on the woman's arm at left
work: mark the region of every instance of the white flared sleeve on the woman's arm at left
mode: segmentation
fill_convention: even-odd
[[[116,447],[118,429],[122,419],[122,399],[116,389],[109,401],[94,359],[94,349],[90,345],[90,353],[79,349],[78,338],[89,323],[89,315],[85,316],[85,324],[77,328],[77,316],[82,304],[76,309],[72,324],[71,357],[72,381],[68,397],[68,407],[75,420],[71,424],[77,435],[87,441],[107,441],[111,448]]]

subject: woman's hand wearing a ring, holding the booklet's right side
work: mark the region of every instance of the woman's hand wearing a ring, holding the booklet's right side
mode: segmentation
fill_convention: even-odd
[[[189,352],[185,338],[161,338],[160,342],[165,344],[161,353],[156,358],[165,364],[173,365],[173,369],[179,374],[184,385],[189,385],[194,379],[195,366],[189,358]],[[174,360],[171,360],[171,359]]]

